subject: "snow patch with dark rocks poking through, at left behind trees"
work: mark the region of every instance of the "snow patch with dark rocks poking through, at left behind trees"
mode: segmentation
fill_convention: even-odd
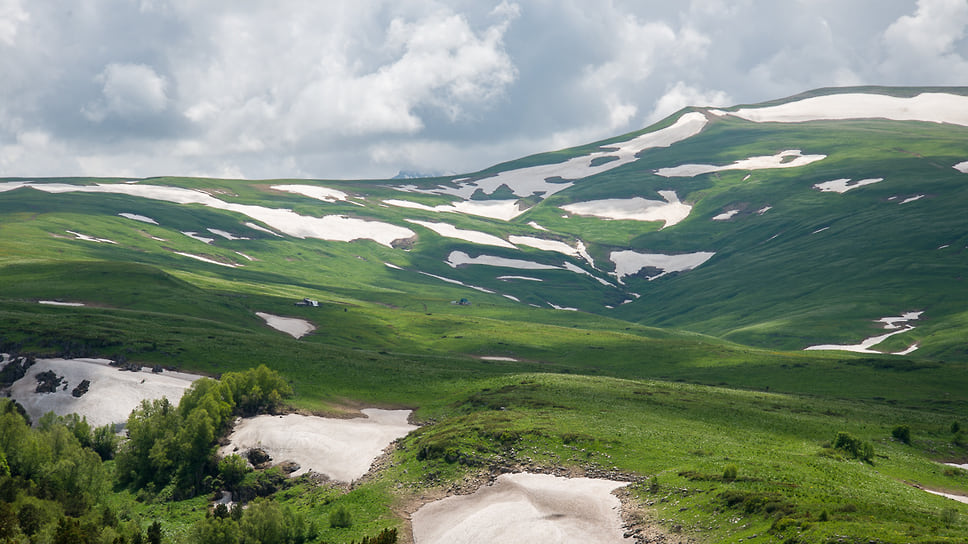
[[[38,359],[27,374],[14,382],[11,397],[37,421],[47,412],[76,413],[94,426],[124,423],[142,400],[167,397],[178,404],[192,382],[200,378],[181,372],[130,372],[109,366],[107,359]],[[54,393],[37,393],[37,374],[47,370],[62,376],[66,385]],[[82,380],[90,380],[87,393],[71,393]]]

